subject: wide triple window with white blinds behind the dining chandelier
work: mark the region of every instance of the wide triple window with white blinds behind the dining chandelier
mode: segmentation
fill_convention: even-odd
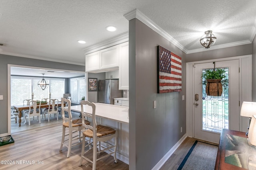
[[[38,77],[11,76],[11,104],[23,104],[23,100],[32,99],[32,93],[34,94],[33,100],[49,98],[51,93],[51,99],[60,101],[65,93],[65,79],[45,78],[46,82],[50,84],[45,90],[37,85],[41,80],[42,78]]]

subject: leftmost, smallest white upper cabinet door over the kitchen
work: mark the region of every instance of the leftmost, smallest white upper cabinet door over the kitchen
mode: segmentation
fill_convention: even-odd
[[[85,71],[100,69],[100,51],[85,55]]]

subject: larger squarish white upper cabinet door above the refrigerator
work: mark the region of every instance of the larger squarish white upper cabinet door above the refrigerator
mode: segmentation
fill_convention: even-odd
[[[100,69],[119,66],[119,45],[100,50]]]

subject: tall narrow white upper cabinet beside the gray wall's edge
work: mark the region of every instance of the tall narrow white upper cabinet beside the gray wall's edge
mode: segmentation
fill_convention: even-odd
[[[129,42],[119,44],[119,90],[129,90]]]

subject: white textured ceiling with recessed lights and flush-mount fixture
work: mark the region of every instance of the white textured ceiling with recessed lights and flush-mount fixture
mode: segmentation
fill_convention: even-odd
[[[128,31],[134,9],[185,53],[252,43],[256,33],[256,0],[0,0],[0,53],[84,65],[86,48]],[[210,49],[199,42],[207,30],[217,37]]]

